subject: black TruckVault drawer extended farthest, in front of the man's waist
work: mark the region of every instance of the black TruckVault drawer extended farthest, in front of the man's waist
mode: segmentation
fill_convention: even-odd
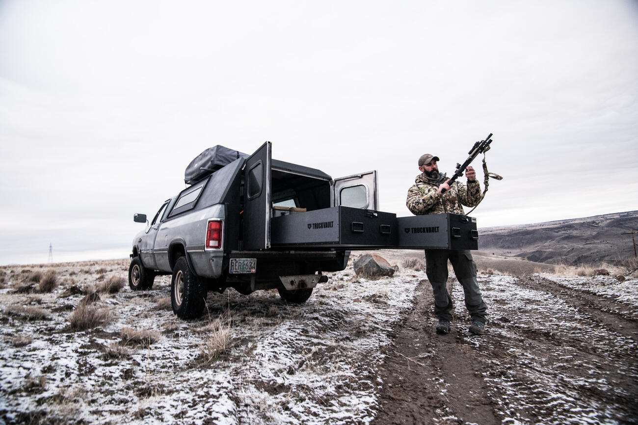
[[[399,248],[478,250],[477,219],[460,214],[399,217]]]

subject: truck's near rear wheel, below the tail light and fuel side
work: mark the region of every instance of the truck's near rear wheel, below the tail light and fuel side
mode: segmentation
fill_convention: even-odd
[[[206,305],[205,285],[188,268],[186,257],[179,257],[170,281],[170,301],[179,318],[197,318]]]

